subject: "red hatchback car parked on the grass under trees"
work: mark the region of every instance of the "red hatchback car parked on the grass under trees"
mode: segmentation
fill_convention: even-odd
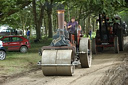
[[[20,51],[25,53],[30,48],[29,40],[23,36],[3,36],[1,41],[7,51]]]

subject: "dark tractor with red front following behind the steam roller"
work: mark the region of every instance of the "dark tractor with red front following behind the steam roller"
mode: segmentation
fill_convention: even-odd
[[[110,19],[105,14],[99,14],[99,30],[93,39],[93,53],[102,52],[104,48],[114,47],[115,53],[123,48],[123,26],[120,17]]]

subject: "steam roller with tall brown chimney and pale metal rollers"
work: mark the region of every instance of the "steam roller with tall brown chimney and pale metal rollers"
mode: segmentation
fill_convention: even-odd
[[[82,68],[89,68],[92,61],[91,41],[81,36],[80,29],[76,27],[76,37],[64,28],[64,10],[57,10],[58,30],[53,36],[50,46],[41,49],[41,67],[45,76],[72,76],[75,66],[81,64]],[[80,61],[80,63],[76,63]]]

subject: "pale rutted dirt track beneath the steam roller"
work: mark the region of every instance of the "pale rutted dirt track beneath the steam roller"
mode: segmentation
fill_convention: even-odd
[[[3,85],[128,85],[128,43],[119,54],[108,48],[94,55],[92,67],[77,67],[73,76],[46,77],[38,70]]]

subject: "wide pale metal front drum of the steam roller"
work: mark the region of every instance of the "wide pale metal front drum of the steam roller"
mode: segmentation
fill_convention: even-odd
[[[44,50],[42,53],[42,71],[45,76],[71,76],[74,66],[71,64],[72,50]]]

